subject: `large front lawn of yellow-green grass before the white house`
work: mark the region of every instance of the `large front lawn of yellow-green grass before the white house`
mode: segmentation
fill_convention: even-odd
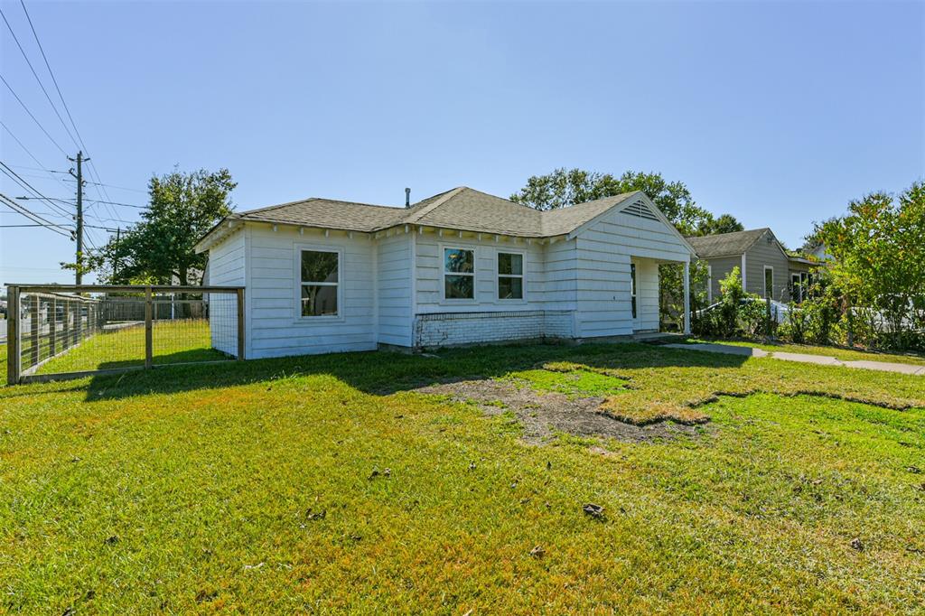
[[[473,380],[647,426],[418,390]],[[917,611],[923,452],[920,376],[633,344],[3,388],[0,610]]]

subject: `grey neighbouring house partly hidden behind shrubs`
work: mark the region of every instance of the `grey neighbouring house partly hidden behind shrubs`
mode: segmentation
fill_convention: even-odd
[[[770,228],[691,237],[687,241],[708,263],[709,302],[719,299],[720,280],[735,266],[739,267],[742,287],[747,292],[779,302],[800,302],[817,265],[788,254]]]

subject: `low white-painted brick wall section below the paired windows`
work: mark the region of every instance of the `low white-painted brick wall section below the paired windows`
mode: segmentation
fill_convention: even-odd
[[[572,322],[572,311],[418,314],[414,319],[414,343],[418,347],[441,347],[476,342],[572,338]]]

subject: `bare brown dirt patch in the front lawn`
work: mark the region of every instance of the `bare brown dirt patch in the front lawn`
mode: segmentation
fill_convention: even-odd
[[[695,426],[671,422],[626,424],[600,408],[604,398],[570,398],[557,392],[539,393],[529,386],[518,387],[505,381],[457,381],[415,391],[473,402],[489,415],[511,411],[524,425],[524,440],[534,444],[545,442],[557,431],[577,437],[613,437],[632,442],[697,434]]]

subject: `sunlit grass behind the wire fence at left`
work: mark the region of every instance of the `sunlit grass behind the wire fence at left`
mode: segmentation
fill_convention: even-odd
[[[212,349],[209,322],[204,319],[155,321],[152,327],[152,361],[156,364],[207,362],[228,359]],[[43,340],[43,351],[47,342]],[[23,340],[23,369],[31,345]],[[36,374],[124,368],[144,365],[144,326],[99,333],[39,366]]]

